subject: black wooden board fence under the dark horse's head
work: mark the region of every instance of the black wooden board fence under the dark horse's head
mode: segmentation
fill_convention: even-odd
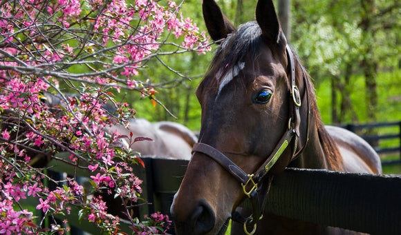
[[[144,179],[142,198],[149,204],[140,206],[139,214],[157,211],[169,214],[188,161],[155,158],[143,161],[145,167],[135,166],[134,171]],[[73,173],[72,167],[62,163],[57,163],[54,170]],[[248,206],[246,201],[243,206]],[[288,168],[274,177],[266,211],[370,234],[401,234],[401,176]],[[68,217],[74,234],[77,229],[99,233],[92,223],[77,221],[74,213]],[[131,232],[124,223],[120,229]],[[174,234],[174,229],[169,233]]]

